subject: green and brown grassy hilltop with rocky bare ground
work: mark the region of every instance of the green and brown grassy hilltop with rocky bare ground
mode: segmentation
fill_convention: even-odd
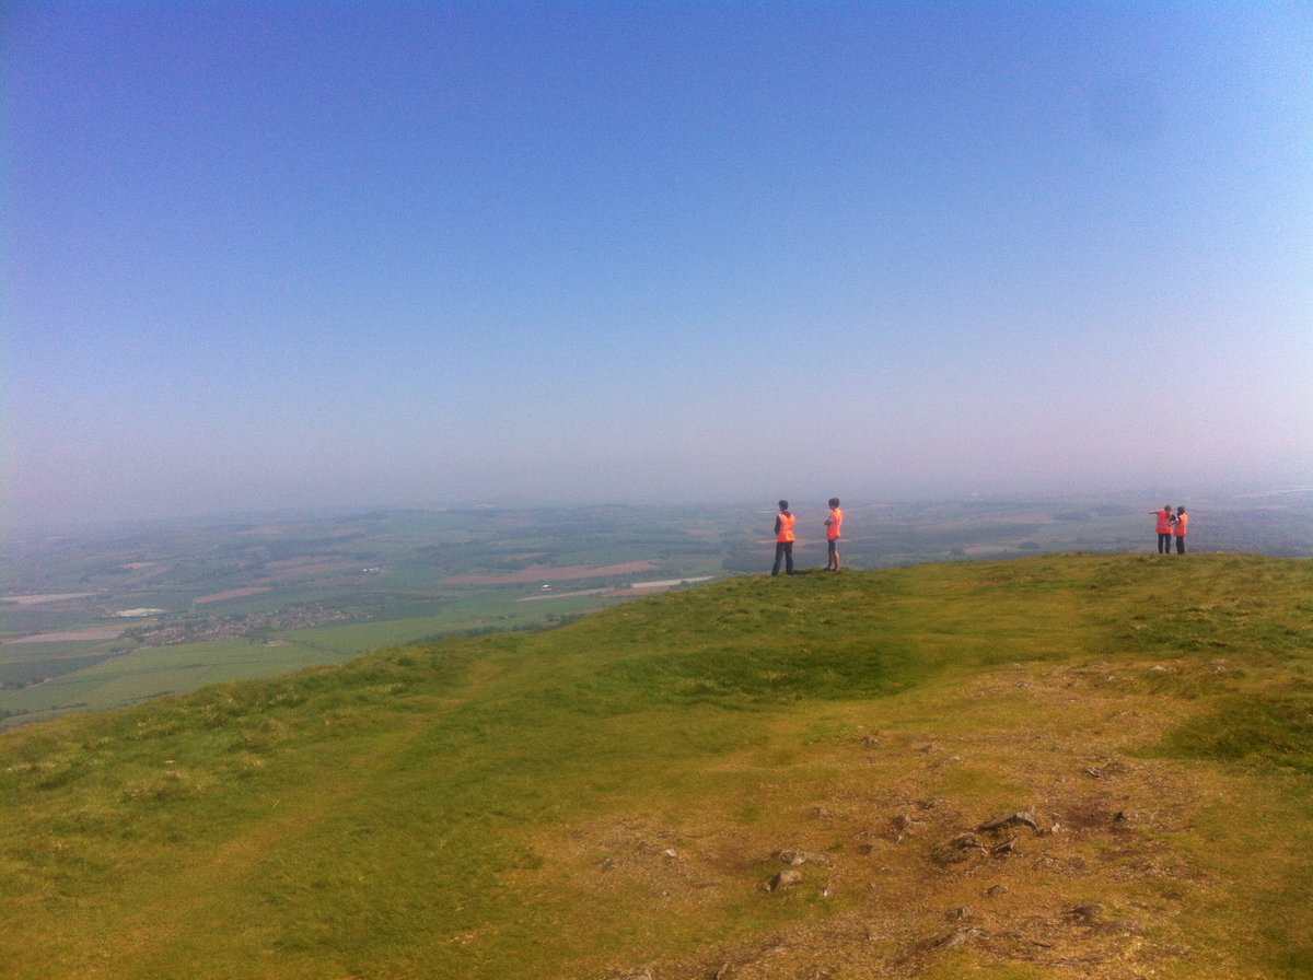
[[[14,977],[1308,977],[1313,563],[752,576],[0,735]]]

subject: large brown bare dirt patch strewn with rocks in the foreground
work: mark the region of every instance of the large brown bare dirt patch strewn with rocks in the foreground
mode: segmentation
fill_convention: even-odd
[[[1163,719],[1092,684],[1107,674],[1004,669],[983,678],[989,708],[962,706],[943,725],[905,727],[892,702],[853,706],[851,720],[878,712],[885,728],[763,770],[751,795],[768,819],[726,820],[727,799],[666,800],[687,819],[612,815],[536,847],[555,871],[587,868],[576,880],[591,901],[639,916],[809,909],[696,959],[612,964],[601,976],[614,980],[1148,977],[1191,954],[1183,922],[1216,882],[1178,845],[1197,812],[1195,774],[1125,754]],[[1018,685],[1025,706],[999,718],[997,698]],[[759,767],[751,754],[726,770]]]

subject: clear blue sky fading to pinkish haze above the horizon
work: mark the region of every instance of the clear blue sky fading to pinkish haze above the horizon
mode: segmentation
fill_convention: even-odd
[[[0,30],[7,522],[1313,479],[1302,0]]]

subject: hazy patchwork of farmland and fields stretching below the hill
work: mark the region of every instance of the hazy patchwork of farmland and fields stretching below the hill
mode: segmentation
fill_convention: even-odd
[[[1136,499],[846,502],[844,565],[1154,547]],[[798,505],[800,567],[825,561]],[[1200,500],[1191,551],[1313,555],[1313,493]],[[768,569],[773,506],[391,510],[0,546],[0,727],[448,636],[541,630]]]

